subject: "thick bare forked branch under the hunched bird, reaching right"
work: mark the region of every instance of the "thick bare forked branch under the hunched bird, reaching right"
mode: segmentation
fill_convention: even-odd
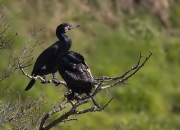
[[[79,101],[73,102],[73,101],[66,101],[62,100],[60,102],[59,105],[57,105],[57,108],[51,110],[50,112],[48,112],[42,119],[41,119],[41,123],[39,126],[39,130],[49,130],[53,127],[55,127],[56,125],[60,124],[60,126],[62,126],[64,123],[66,123],[66,121],[69,120],[77,120],[74,118],[69,118],[71,115],[77,115],[77,114],[85,114],[88,112],[100,112],[103,111],[112,101],[113,98],[111,98],[103,107],[98,108],[97,106],[92,106],[83,110],[77,110],[77,108],[79,106],[82,106],[83,104],[86,104],[88,102],[90,102],[92,100],[92,96],[96,96],[100,91],[104,90],[104,89],[109,89],[112,88],[114,86],[116,86],[117,84],[125,84],[126,81],[128,79],[130,79],[132,76],[134,76],[144,65],[145,63],[149,60],[149,58],[152,56],[152,54],[154,53],[155,49],[153,51],[150,50],[150,54],[148,57],[145,58],[145,60],[141,63],[142,61],[142,54],[140,53],[139,56],[139,60],[136,64],[136,66],[130,68],[129,70],[127,70],[123,75],[118,76],[118,77],[108,77],[108,76],[102,76],[102,77],[98,77],[95,78],[95,80],[99,81],[99,85],[97,86],[96,90],[92,93],[91,96],[85,96],[84,98],[82,98]],[[103,83],[107,83],[109,81],[114,81],[113,83],[111,83],[110,85],[106,85],[106,86],[102,86]],[[64,103],[65,102],[65,103]],[[53,120],[52,122],[50,122],[49,124],[46,123],[46,120],[48,120],[48,118],[50,118],[54,113],[60,112],[63,109],[66,109],[67,106],[71,104],[71,108],[69,110],[67,110],[67,112],[65,112],[64,114],[62,114],[60,117],[58,117],[57,119]],[[45,125],[47,124],[47,125]]]

